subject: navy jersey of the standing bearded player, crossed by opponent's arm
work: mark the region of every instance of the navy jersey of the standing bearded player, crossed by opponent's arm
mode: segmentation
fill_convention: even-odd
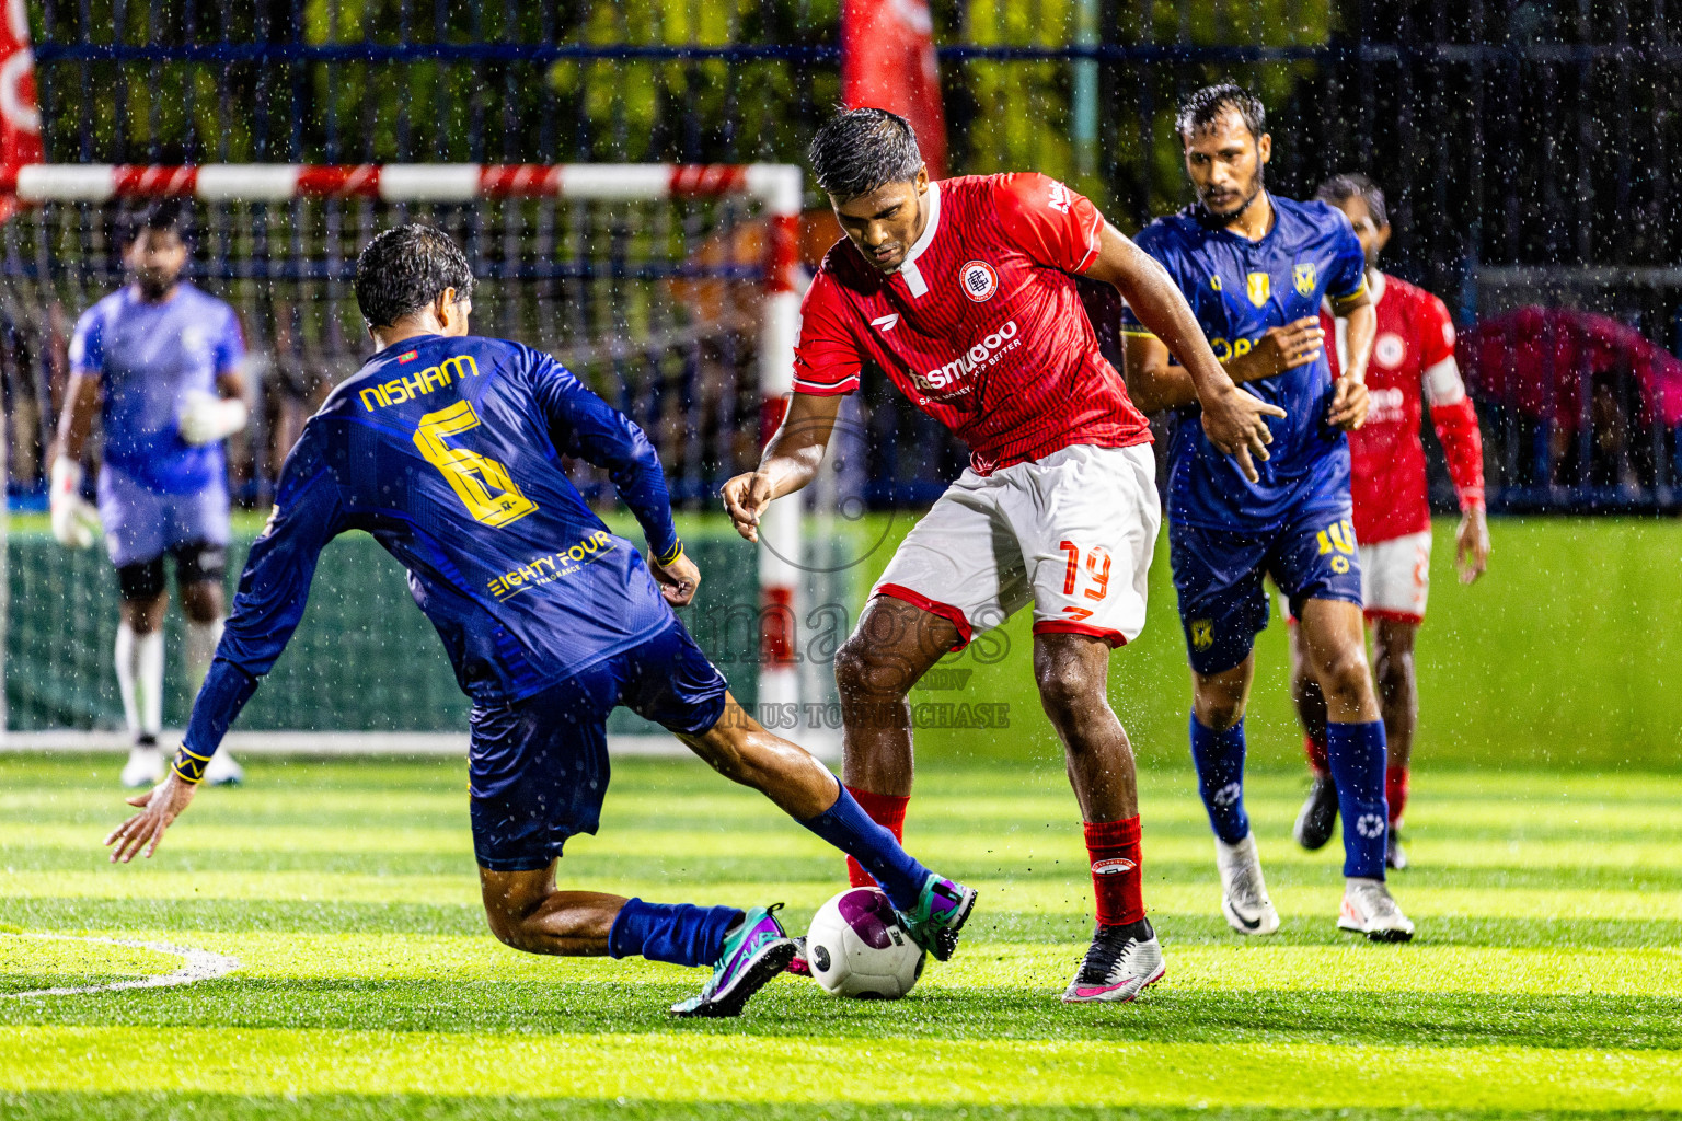
[[[1198,324],[1221,361],[1245,355],[1268,331],[1320,314],[1366,291],[1361,242],[1342,212],[1324,202],[1270,195],[1275,222],[1251,242],[1204,225],[1194,207],[1157,218],[1135,242],[1156,257],[1186,294]],[[1124,334],[1147,334],[1130,309]],[[1272,459],[1256,462],[1250,482],[1201,424],[1181,424],[1171,452],[1169,518],[1208,529],[1273,529],[1293,513],[1347,509],[1349,440],[1325,424],[1332,371],[1322,353],[1312,363],[1246,382],[1245,388],[1288,415],[1268,418]]]

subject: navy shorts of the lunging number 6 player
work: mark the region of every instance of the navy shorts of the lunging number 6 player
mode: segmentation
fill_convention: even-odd
[[[695,734],[725,711],[723,674],[676,618],[653,639],[511,704],[474,704],[473,850],[495,872],[548,867],[594,834],[607,795],[607,714],[624,704]]]

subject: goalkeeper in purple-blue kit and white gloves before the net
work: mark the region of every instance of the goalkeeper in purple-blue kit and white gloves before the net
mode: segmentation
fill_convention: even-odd
[[[222,637],[227,568],[229,435],[246,427],[246,341],[234,309],[182,281],[187,240],[178,202],[140,215],[123,264],[133,281],[76,321],[71,383],[52,459],[52,534],[87,548],[104,531],[116,565],[121,620],[116,679],[133,750],[124,787],[163,778],[165,558],[187,615],[187,676],[204,681]],[[82,452],[99,415],[104,432],[94,509],[82,497]],[[241,780],[222,755],[205,778]]]

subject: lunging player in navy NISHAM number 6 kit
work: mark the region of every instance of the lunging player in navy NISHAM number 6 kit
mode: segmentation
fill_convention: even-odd
[[[822,763],[760,728],[673,613],[700,571],[648,437],[548,355],[468,334],[471,294],[461,250],[429,227],[387,230],[362,252],[357,303],[377,353],[288,455],[182,750],[156,788],[130,798],[143,808],[106,839],[111,859],[151,855],[298,627],[321,550],[363,529],[409,570],[473,697],[473,847],[501,941],[711,965],[676,1015],[737,1015],[794,958],[775,908],[557,886],[565,842],[600,822],[607,714],[624,704],[856,857],[912,938],[950,956],[976,892],[907,855]],[[584,504],[563,457],[611,472],[648,561]]]

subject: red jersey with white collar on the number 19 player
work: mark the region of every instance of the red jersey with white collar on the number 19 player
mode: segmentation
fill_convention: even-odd
[[[981,474],[1073,444],[1149,444],[1071,276],[1098,259],[1097,207],[1036,173],[940,180],[927,203],[898,271],[848,239],[824,255],[801,306],[796,392],[851,393],[873,361],[969,444]]]

